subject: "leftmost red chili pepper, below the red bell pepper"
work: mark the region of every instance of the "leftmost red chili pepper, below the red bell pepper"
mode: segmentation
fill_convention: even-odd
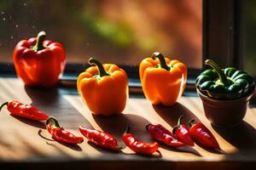
[[[42,111],[38,111],[36,107],[32,105],[21,104],[15,100],[3,103],[3,105],[0,106],[0,111],[4,105],[7,105],[8,111],[15,116],[26,117],[27,119],[34,121],[45,121],[49,117]]]

